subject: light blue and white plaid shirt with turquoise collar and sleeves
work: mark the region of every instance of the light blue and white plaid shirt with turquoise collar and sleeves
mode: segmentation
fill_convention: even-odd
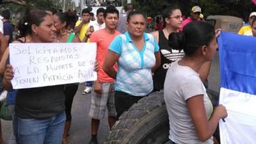
[[[134,96],[145,96],[153,90],[151,68],[156,64],[155,52],[159,46],[150,34],[143,33],[145,44],[141,51],[132,42],[128,32],[118,35],[109,50],[119,54],[115,90]]]

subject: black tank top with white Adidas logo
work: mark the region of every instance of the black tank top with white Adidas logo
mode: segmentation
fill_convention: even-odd
[[[183,51],[177,51],[175,49],[172,49],[172,47],[169,46],[168,40],[164,36],[163,30],[159,30],[159,51],[161,54],[161,65],[160,67],[154,72],[153,76],[153,83],[154,83],[154,90],[161,90],[164,88],[164,79],[166,76],[166,72],[168,68],[170,67],[170,64],[174,61],[180,60],[184,56]]]

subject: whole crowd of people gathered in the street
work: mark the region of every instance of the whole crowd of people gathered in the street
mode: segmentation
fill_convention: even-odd
[[[13,118],[9,143],[67,144],[72,102],[79,86],[75,83],[13,90],[13,67],[8,58],[11,42],[97,44],[97,80],[86,82],[83,91],[92,93],[88,113],[92,118],[90,144],[98,143],[97,132],[106,109],[111,129],[132,104],[159,90],[164,90],[170,144],[218,143],[212,135],[227,111],[222,105],[212,108],[204,83],[220,31],[200,19],[201,12],[199,6],[193,6],[190,17],[183,20],[179,7],[166,6],[163,28],[145,33],[147,19],[132,4],[127,4],[122,14],[115,6],[99,8],[96,20],[88,8],[81,12],[81,20],[72,12],[30,10],[17,24],[19,35],[13,41],[10,12],[3,11],[0,74],[1,89],[8,91],[6,103]],[[255,19],[253,12],[250,25],[241,28],[239,34],[256,36]],[[0,144],[6,144],[2,134]]]

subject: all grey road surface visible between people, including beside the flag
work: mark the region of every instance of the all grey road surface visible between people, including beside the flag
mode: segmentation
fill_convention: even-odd
[[[218,53],[212,62],[211,72],[209,74],[209,89],[218,91],[220,89],[220,72],[219,72]],[[73,107],[72,107],[72,126],[70,129],[70,136],[68,137],[71,144],[87,144],[91,138],[90,118],[88,118],[88,111],[90,108],[90,94],[81,95],[84,84],[80,84],[77,90]],[[2,120],[2,130],[5,140],[8,140],[12,132],[12,123]],[[99,127],[98,140],[103,143],[106,136],[108,136],[108,123],[106,117],[102,120]]]

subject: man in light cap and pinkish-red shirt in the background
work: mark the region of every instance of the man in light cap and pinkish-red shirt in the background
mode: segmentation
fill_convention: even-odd
[[[201,12],[202,11],[201,11],[200,6],[193,6],[193,8],[191,9],[190,17],[188,17],[188,19],[185,19],[182,22],[182,26],[181,26],[181,28],[179,30],[182,31],[184,26],[186,26],[186,24],[188,24],[189,22],[192,22],[192,21],[195,21],[195,20],[199,20]]]

